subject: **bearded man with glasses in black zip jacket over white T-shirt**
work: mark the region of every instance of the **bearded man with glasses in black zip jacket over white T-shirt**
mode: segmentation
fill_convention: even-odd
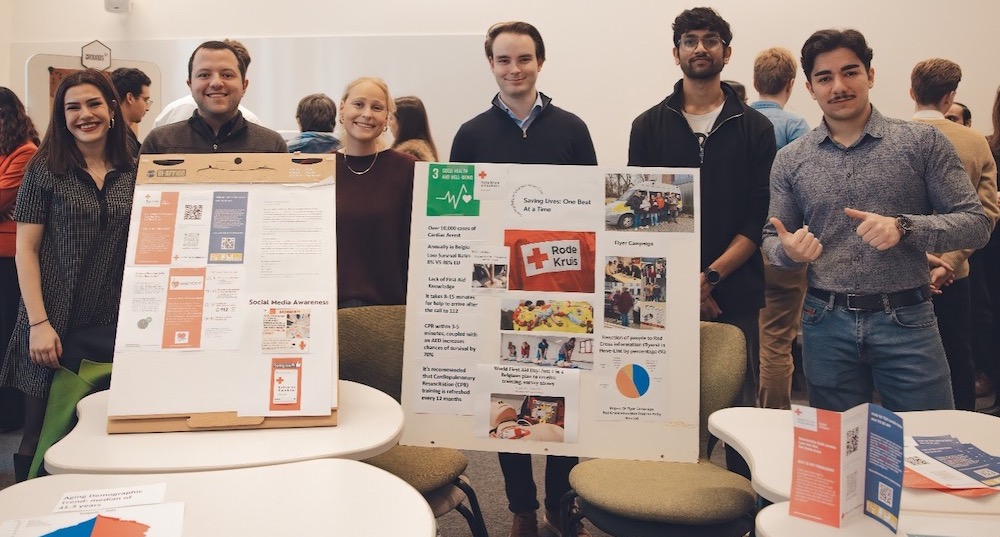
[[[632,122],[628,163],[701,168],[701,318],[743,331],[748,360],[743,401],[753,406],[757,316],[764,305],[760,227],[767,218],[774,127],[722,83],[722,68],[733,52],[729,23],[699,7],[681,13],[673,30],[674,63],[684,77],[672,95]],[[735,455],[727,450],[734,471],[740,462]]]

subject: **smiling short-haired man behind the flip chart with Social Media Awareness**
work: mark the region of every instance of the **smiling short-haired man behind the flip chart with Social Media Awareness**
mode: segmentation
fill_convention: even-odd
[[[246,74],[246,63],[229,43],[198,45],[188,60],[187,81],[197,110],[186,121],[153,129],[142,153],[287,153],[280,134],[250,123],[240,112]]]

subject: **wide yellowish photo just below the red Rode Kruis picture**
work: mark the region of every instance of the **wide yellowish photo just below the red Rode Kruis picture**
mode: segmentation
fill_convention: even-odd
[[[594,306],[584,300],[504,299],[500,329],[593,334]]]

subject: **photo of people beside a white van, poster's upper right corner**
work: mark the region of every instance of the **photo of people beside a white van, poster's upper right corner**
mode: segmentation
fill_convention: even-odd
[[[607,231],[694,232],[693,175],[609,173],[604,198]]]

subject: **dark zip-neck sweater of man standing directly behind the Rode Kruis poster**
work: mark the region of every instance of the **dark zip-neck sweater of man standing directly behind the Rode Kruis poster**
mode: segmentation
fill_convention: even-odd
[[[521,130],[493,99],[489,110],[466,121],[455,133],[451,162],[513,164],[597,164],[586,123],[552,104],[542,94],[542,111]]]

